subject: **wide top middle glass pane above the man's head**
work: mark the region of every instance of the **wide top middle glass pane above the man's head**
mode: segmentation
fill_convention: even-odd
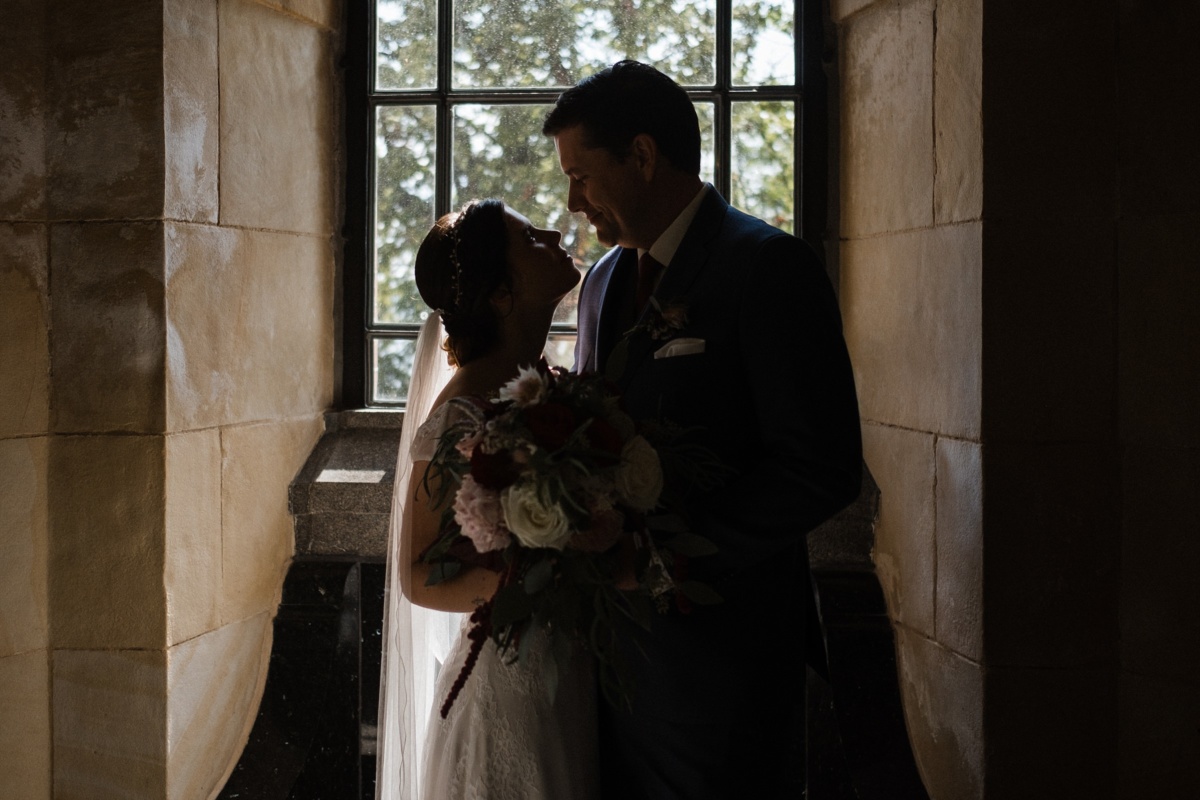
[[[626,58],[715,80],[716,0],[462,0],[454,13],[457,89],[570,86]]]

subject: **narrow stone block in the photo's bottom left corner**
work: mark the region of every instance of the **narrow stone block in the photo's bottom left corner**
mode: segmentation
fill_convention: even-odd
[[[0,798],[50,800],[49,652],[0,657]]]

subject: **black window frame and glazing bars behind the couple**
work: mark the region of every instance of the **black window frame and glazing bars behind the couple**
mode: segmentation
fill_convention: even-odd
[[[732,186],[731,119],[739,101],[782,101],[794,103],[794,234],[821,247],[826,229],[827,132],[823,0],[794,0],[796,80],[790,85],[738,86],[732,82],[733,0],[715,0],[715,82],[710,86],[686,85],[694,102],[714,107],[713,184],[728,198]],[[434,218],[450,211],[451,138],[454,107],[464,103],[552,104],[562,89],[454,89],[452,0],[438,0],[438,85],[431,90],[388,90],[374,86],[376,13],[374,0],[346,4],[346,37],[342,52],[344,78],[342,137],[344,148],[343,251],[341,276],[341,325],[335,343],[335,397],[340,408],[404,408],[403,403],[372,402],[372,348],[378,338],[396,333],[415,337],[419,324],[372,321],[374,303],[374,120],[377,109],[395,106],[436,107]],[[563,179],[566,201],[566,179]],[[551,333],[574,333],[574,326],[556,324]]]

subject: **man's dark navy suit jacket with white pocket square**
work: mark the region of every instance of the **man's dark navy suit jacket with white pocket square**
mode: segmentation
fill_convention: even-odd
[[[588,272],[577,371],[605,371],[624,333],[619,293],[631,283],[622,276],[636,259],[616,247]],[[726,711],[744,716],[748,704],[769,702],[772,681],[803,681],[812,618],[804,539],[859,492],[858,403],[821,260],[716,191],[708,190],[654,296],[685,306],[678,335],[703,339],[703,351],[655,359],[665,342],[635,335],[617,383],[634,419],[695,426],[698,441],[732,468],[719,489],[692,492],[686,503],[692,528],[719,549],[694,566],[725,602],[656,616],[650,636],[630,627],[646,656],[629,649],[636,696],[625,722],[720,726]]]

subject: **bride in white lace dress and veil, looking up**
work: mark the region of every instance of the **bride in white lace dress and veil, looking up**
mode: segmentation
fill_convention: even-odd
[[[428,587],[428,566],[416,560],[437,537],[442,516],[421,479],[439,435],[472,408],[455,398],[494,397],[518,367],[536,363],[554,308],[580,281],[559,239],[499,200],[476,200],[439,219],[416,255],[418,290],[437,311],[418,339],[397,458],[379,800],[599,794],[595,686],[583,654],[548,691],[552,681],[542,680],[541,669],[553,656],[544,634],[530,637],[516,662],[502,658],[488,640],[449,715],[440,716],[470,644],[458,620],[492,596],[498,575],[468,567]],[[440,366],[448,361],[452,372]],[[409,420],[424,423],[413,431]]]

